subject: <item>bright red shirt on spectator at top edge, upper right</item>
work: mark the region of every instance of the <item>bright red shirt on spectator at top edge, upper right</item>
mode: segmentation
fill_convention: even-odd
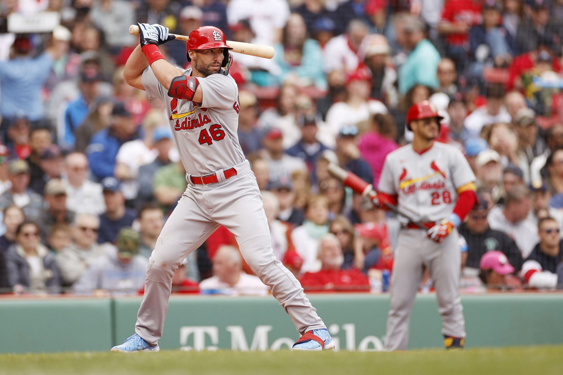
[[[471,28],[471,26],[481,23],[481,9],[480,1],[446,0],[442,20],[453,24],[466,24]],[[463,46],[467,43],[468,34],[469,31],[467,33],[448,34],[446,35],[446,42],[452,46]]]

